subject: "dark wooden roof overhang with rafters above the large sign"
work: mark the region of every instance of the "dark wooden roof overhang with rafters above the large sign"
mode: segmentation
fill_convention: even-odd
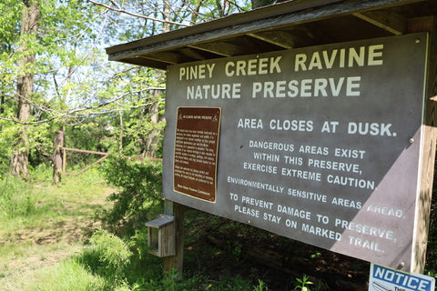
[[[403,35],[415,22],[435,15],[437,0],[290,0],[108,47],[107,55],[111,61],[166,69],[219,57]]]

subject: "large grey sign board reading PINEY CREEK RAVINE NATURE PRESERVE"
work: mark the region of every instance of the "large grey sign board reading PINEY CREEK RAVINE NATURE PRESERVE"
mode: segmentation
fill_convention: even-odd
[[[426,47],[427,35],[415,34],[169,66],[164,196],[409,268]],[[217,129],[208,108],[221,108]],[[211,118],[181,124],[181,115]],[[211,133],[220,133],[217,164],[184,164],[186,142],[200,161],[210,157],[188,135]]]

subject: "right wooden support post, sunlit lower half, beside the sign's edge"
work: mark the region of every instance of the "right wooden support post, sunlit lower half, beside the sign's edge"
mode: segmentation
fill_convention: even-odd
[[[417,200],[417,217],[413,241],[411,272],[423,274],[426,261],[426,246],[430,230],[430,213],[432,199],[432,179],[434,175],[435,146],[437,141],[437,21],[434,16],[412,19],[408,24],[410,33],[429,32],[428,76],[425,88],[425,120],[422,125],[423,146],[420,173],[420,195]]]

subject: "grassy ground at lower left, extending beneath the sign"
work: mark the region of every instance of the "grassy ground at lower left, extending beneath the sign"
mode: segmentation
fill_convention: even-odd
[[[95,221],[115,191],[97,169],[63,176],[56,186],[44,168],[30,182],[0,183],[2,291],[267,290],[240,276],[163,276],[162,260],[147,253],[144,230],[122,240]]]

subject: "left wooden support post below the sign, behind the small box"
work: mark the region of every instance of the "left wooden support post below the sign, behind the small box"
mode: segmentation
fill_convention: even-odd
[[[180,277],[182,276],[184,265],[185,206],[169,200],[166,200],[164,203],[164,214],[175,217],[176,254],[175,256],[166,256],[163,258],[163,269],[166,274],[171,274],[173,273],[173,270],[176,270]]]

